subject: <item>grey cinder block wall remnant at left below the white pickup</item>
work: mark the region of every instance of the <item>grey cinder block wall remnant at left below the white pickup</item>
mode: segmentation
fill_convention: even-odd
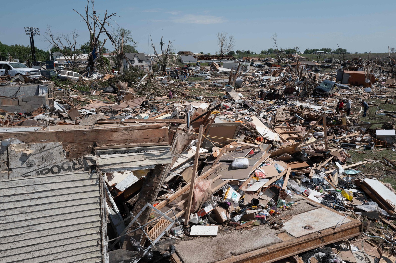
[[[0,95],[8,98],[0,99],[0,109],[8,112],[29,113],[42,105],[48,105],[48,89],[44,95],[38,95],[39,86],[46,85],[8,85],[0,86]]]

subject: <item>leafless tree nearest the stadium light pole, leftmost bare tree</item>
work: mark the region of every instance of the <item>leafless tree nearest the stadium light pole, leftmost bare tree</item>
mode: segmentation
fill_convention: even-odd
[[[72,66],[76,64],[78,59],[77,49],[77,38],[78,32],[77,29],[74,29],[71,33],[65,34],[54,34],[51,30],[51,26],[47,25],[47,30],[45,32],[46,37],[44,41],[50,43],[54,47],[59,49],[59,52],[62,53],[62,56],[65,58],[67,64]]]

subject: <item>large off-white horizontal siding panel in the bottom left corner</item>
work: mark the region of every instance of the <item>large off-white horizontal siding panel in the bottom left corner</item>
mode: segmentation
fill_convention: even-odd
[[[106,262],[99,174],[23,177],[0,186],[0,263]]]

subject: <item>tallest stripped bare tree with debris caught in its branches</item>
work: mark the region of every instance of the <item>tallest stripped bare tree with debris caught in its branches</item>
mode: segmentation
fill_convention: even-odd
[[[103,19],[99,19],[100,15],[96,15],[93,0],[87,0],[87,6],[85,7],[84,15],[76,11],[76,9],[73,9],[73,11],[78,13],[80,17],[82,17],[83,21],[87,24],[87,28],[89,31],[89,47],[91,48],[92,52],[88,54],[88,63],[84,71],[87,72],[87,75],[91,75],[93,72],[97,71],[96,58],[100,56],[101,51],[103,50],[107,40],[107,38],[105,38],[102,45],[100,45],[99,38],[101,34],[105,33],[109,37],[110,41],[112,43],[114,42],[114,39],[107,31],[106,26],[111,26],[109,20],[114,22],[112,17],[117,15],[116,13],[111,13],[108,15],[106,10]],[[90,13],[90,11],[92,13]]]

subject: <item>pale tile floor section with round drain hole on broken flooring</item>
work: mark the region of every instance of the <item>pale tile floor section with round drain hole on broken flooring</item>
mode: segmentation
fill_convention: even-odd
[[[343,216],[321,207],[293,216],[282,228],[293,237],[301,237],[326,228],[334,227],[342,218]],[[343,224],[350,221],[352,220],[347,217],[344,219]],[[304,229],[304,226],[308,226],[309,228]]]

